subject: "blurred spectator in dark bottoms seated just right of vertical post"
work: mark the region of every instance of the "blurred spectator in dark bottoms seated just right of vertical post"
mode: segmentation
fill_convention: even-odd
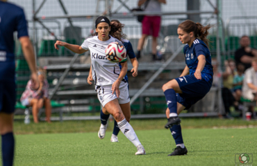
[[[222,100],[224,102],[224,108],[226,116],[230,115],[230,107],[233,106],[235,98],[233,96],[233,77],[236,74],[235,62],[233,59],[229,59],[224,62],[226,71],[222,73],[223,88],[222,88]]]

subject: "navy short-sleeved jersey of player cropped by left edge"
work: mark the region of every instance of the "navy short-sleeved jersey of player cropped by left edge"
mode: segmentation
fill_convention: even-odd
[[[24,11],[12,3],[0,1],[0,80],[15,80],[15,31],[18,38],[28,36]]]

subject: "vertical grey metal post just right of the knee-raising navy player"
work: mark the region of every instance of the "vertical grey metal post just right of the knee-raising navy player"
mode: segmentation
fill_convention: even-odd
[[[216,1],[217,5],[217,37],[216,37],[216,46],[217,46],[217,62],[218,62],[218,72],[222,73],[222,68],[221,68],[221,57],[220,57],[220,48],[219,48],[219,0]],[[219,108],[219,114],[223,114],[222,111],[222,77],[219,78],[219,85],[218,85],[218,108]]]

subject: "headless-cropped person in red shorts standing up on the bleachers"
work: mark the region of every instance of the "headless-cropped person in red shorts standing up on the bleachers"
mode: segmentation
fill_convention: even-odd
[[[144,12],[161,12],[161,3],[166,4],[166,0],[139,0],[138,6],[144,5]],[[137,58],[141,57],[141,50],[144,46],[144,41],[149,35],[153,37],[151,42],[151,53],[153,60],[158,59],[156,57],[156,46],[157,46],[157,37],[160,31],[160,15],[145,15],[142,20],[142,37],[138,41],[138,54]]]

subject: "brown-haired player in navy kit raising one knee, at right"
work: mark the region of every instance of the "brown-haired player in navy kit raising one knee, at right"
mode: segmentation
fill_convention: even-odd
[[[213,84],[213,66],[211,65],[210,50],[208,49],[208,29],[199,23],[186,20],[179,24],[179,39],[185,47],[185,68],[180,77],[163,85],[167,101],[166,129],[170,129],[176,142],[176,148],[168,156],[185,155],[186,149],[178,115],[183,109],[189,109],[192,104],[204,98]]]

